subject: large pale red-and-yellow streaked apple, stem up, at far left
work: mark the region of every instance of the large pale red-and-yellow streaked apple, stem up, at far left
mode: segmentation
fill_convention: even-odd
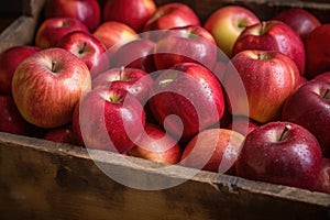
[[[12,96],[23,118],[51,129],[72,121],[75,105],[91,89],[89,69],[63,48],[47,48],[25,58],[12,78]]]

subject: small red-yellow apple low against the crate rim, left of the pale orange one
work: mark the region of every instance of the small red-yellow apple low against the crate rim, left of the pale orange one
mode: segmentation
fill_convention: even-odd
[[[156,124],[146,123],[145,133],[128,155],[165,164],[177,164],[182,147],[176,140]]]

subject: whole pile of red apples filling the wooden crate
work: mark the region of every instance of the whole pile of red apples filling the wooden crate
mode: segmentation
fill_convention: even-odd
[[[330,194],[330,24],[48,0],[0,55],[0,131]]]

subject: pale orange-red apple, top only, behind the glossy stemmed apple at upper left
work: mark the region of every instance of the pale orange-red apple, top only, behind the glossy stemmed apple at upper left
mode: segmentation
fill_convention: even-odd
[[[139,38],[138,33],[132,28],[117,21],[102,22],[92,34],[102,42],[107,48],[111,48],[112,46],[119,47],[120,45]]]

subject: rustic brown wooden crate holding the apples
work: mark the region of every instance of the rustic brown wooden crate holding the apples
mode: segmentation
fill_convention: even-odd
[[[32,44],[44,0],[23,1],[23,15],[0,35],[0,51]],[[160,6],[173,0],[158,0]],[[205,20],[218,7],[239,3],[262,19],[289,7],[302,7],[322,22],[330,6],[302,1],[183,0]],[[328,14],[328,16],[327,16]],[[174,166],[116,153],[92,161],[69,144],[0,133],[1,219],[329,219],[330,195],[252,182],[229,175]],[[130,161],[131,163],[128,163]],[[163,190],[139,190],[109,178],[97,164],[132,182],[177,182]]]

